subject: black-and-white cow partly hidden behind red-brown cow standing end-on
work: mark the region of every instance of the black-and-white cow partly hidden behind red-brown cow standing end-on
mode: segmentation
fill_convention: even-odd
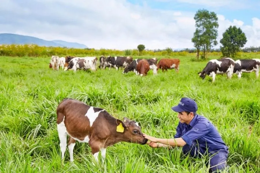
[[[123,74],[128,73],[130,71],[135,72],[136,75],[139,75],[138,71],[137,71],[137,64],[139,63],[139,61],[141,61],[142,59],[135,59],[131,62],[130,65],[128,65],[127,67],[125,67]],[[152,59],[146,59],[150,65],[150,69],[153,69],[153,74],[157,74],[157,59],[156,58],[152,58]]]

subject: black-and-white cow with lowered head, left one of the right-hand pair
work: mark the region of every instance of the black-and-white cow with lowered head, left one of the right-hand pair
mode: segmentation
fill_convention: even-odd
[[[231,58],[211,59],[206,67],[198,72],[200,77],[204,79],[206,75],[212,77],[212,82],[215,82],[216,74],[225,74],[227,78],[231,78],[235,66],[235,61]]]

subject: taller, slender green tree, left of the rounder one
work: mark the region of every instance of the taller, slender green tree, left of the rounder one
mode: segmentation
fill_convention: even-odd
[[[209,12],[208,10],[198,10],[194,16],[196,31],[192,42],[197,49],[197,56],[199,50],[203,47],[204,58],[207,59],[205,53],[208,52],[212,46],[218,44],[218,17],[215,12]]]

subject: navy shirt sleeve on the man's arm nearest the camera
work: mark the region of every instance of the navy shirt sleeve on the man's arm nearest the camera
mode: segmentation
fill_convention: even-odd
[[[187,131],[181,138],[188,144],[191,145],[192,141],[204,136],[209,132],[209,124],[197,123],[192,127],[191,130]]]

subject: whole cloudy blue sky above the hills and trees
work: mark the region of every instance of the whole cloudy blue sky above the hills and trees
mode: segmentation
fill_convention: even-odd
[[[218,16],[218,45],[229,26],[260,46],[259,0],[0,0],[0,33],[64,40],[89,48],[194,48],[194,15]]]

